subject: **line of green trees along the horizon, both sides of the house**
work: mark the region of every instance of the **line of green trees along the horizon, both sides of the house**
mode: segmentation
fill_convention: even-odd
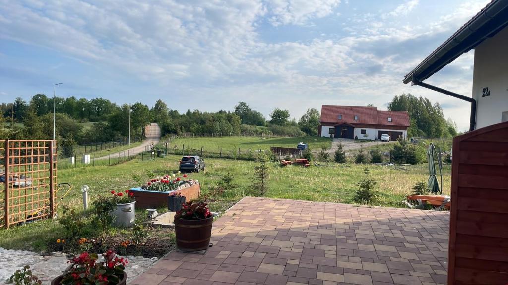
[[[55,98],[56,136],[59,144],[90,144],[129,136],[143,137],[144,126],[156,122],[162,134],[195,135],[317,135],[320,112],[308,109],[303,116],[291,118],[289,110],[274,109],[269,118],[239,102],[232,111],[180,114],[157,100],[153,108],[137,102],[117,105],[107,99]],[[409,136],[449,137],[457,134],[455,122],[444,119],[439,103],[411,94],[395,96],[388,104],[392,111],[407,111],[410,117]],[[37,94],[29,102],[16,98],[12,103],[0,104],[0,137],[13,139],[48,139],[53,134],[53,98]],[[83,127],[83,122],[93,122]]]

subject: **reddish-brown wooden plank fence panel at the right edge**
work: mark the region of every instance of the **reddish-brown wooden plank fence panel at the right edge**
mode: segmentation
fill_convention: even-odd
[[[508,283],[508,122],[453,140],[448,284]]]

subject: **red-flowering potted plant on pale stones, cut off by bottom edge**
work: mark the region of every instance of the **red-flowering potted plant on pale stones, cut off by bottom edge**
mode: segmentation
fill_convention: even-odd
[[[79,256],[69,255],[71,265],[53,279],[51,285],[125,285],[127,274],[124,270],[128,260],[118,258],[112,250],[103,256],[104,261],[97,262],[97,254],[84,252]]]

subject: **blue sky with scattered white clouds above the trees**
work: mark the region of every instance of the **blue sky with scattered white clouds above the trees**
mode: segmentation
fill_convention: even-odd
[[[37,93],[162,99],[185,112],[299,118],[322,104],[386,110],[395,95],[439,102],[468,128],[470,104],[403,84],[488,0],[0,0],[0,102]],[[474,51],[425,82],[471,96]]]

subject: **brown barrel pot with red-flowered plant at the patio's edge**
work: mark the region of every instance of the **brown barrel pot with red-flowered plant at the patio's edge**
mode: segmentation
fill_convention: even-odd
[[[176,247],[184,252],[204,251],[210,245],[213,216],[206,203],[185,202],[175,214]]]

